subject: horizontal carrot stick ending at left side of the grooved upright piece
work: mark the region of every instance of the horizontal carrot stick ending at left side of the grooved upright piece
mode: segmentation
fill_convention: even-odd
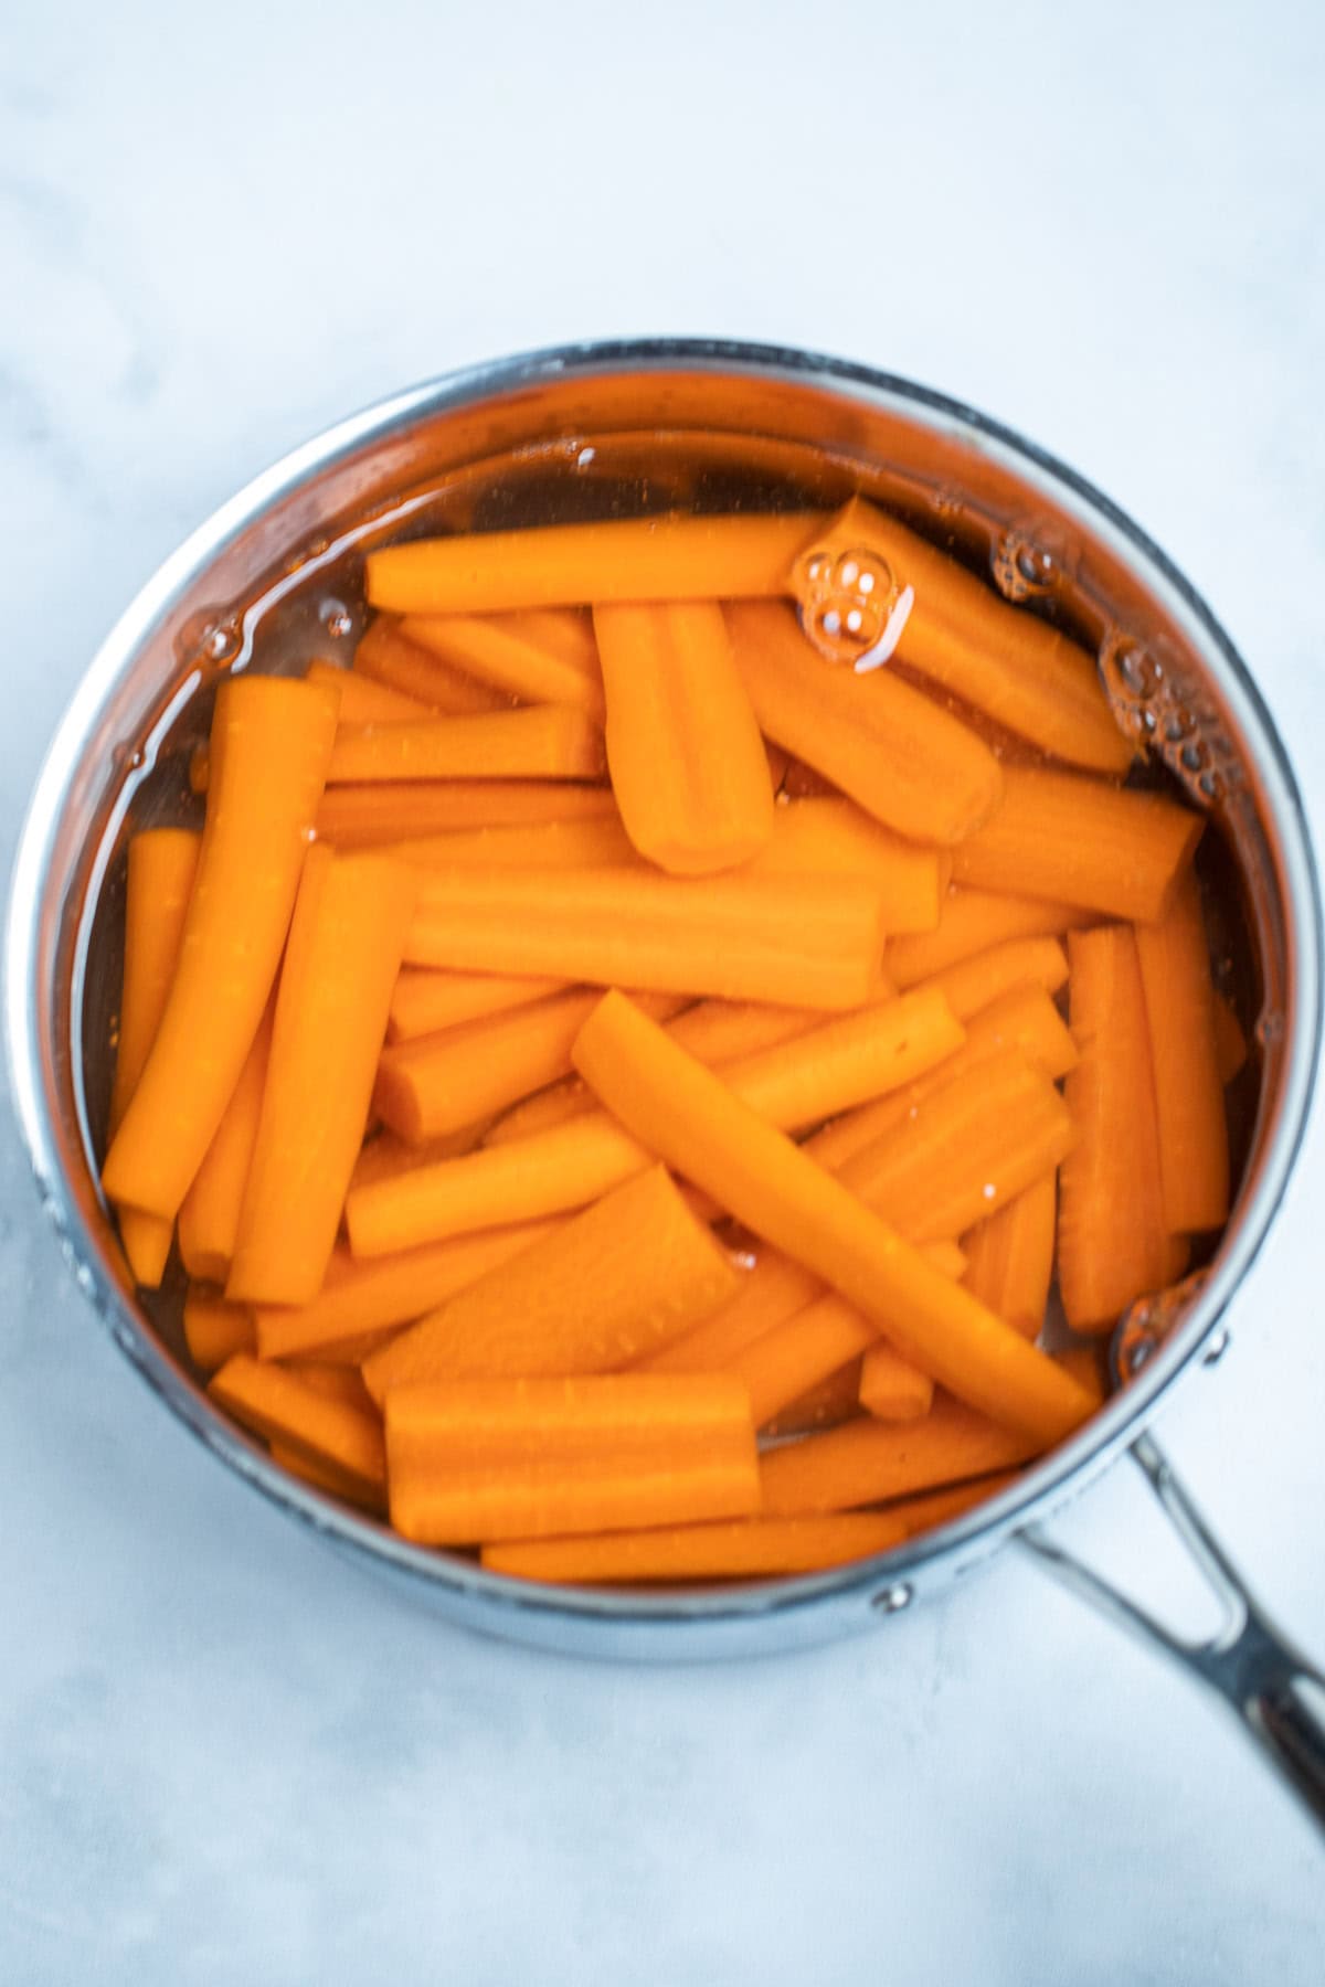
[[[328,779],[598,779],[602,731],[562,703],[405,725],[342,725]]]

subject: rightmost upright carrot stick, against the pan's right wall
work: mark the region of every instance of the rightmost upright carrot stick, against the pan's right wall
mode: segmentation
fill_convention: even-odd
[[[1160,1141],[1164,1224],[1172,1234],[1228,1220],[1228,1123],[1210,946],[1194,872],[1162,924],[1136,926]]]

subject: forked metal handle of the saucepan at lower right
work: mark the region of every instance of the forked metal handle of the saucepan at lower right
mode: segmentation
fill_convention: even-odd
[[[1148,1609],[1073,1558],[1041,1526],[1027,1526],[1019,1534],[1021,1542],[1075,1594],[1142,1639],[1158,1643],[1216,1691],[1325,1832],[1325,1675],[1259,1607],[1158,1443],[1148,1435],[1138,1437],[1132,1456],[1226,1605],[1226,1621],[1210,1641],[1192,1643],[1174,1635]]]

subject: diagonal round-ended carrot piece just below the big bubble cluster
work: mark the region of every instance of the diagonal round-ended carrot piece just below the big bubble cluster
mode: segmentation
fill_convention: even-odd
[[[950,844],[993,815],[997,759],[922,691],[886,670],[834,670],[781,602],[731,606],[727,626],[761,729],[884,827]]]

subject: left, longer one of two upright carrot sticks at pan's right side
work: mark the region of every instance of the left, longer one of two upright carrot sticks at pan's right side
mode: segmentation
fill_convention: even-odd
[[[1077,1143],[1059,1182],[1059,1290],[1075,1331],[1110,1331],[1168,1282],[1146,999],[1126,926],[1073,932],[1067,1079]]]

